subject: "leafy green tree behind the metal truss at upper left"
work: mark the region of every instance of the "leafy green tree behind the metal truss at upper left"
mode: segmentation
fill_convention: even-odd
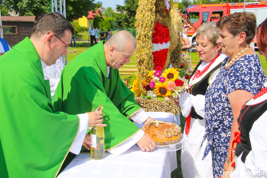
[[[39,15],[50,13],[50,0],[6,0],[9,7],[19,15]],[[88,11],[96,10],[102,5],[94,0],[66,0],[66,18],[69,21],[88,15]]]

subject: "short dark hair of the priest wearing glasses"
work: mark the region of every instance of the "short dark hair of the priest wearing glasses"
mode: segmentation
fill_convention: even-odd
[[[45,33],[54,33],[58,37],[64,35],[65,30],[70,30],[75,34],[73,25],[61,14],[57,12],[38,15],[32,28],[32,36],[40,37]]]

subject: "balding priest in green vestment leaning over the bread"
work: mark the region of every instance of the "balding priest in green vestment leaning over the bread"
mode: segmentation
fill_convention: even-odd
[[[155,142],[131,120],[148,124],[152,118],[134,101],[134,93],[120,79],[118,69],[129,63],[136,40],[126,30],[115,33],[72,59],[62,70],[53,104],[56,111],[83,113],[103,105],[105,150],[121,154],[132,145],[153,150]],[[130,120],[131,119],[131,120]],[[119,152],[112,152],[118,145]],[[130,145],[130,146],[125,146]]]

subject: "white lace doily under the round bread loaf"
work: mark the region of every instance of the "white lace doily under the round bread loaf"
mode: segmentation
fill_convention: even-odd
[[[187,141],[187,138],[182,135],[182,139],[178,143],[172,145],[156,145],[154,151],[171,152],[182,148],[188,149],[190,146],[191,144]]]

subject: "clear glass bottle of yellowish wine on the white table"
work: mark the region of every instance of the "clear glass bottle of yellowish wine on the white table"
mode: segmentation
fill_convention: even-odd
[[[103,159],[105,157],[105,139],[104,127],[93,126],[90,130],[91,144],[91,157],[93,159]]]

